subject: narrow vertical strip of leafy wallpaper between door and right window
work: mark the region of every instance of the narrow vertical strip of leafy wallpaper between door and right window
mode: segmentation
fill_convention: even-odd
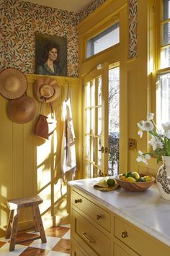
[[[129,0],[129,59],[137,57],[137,25],[137,0]]]

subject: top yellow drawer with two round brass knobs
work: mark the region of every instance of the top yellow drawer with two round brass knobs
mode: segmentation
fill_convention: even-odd
[[[97,222],[107,231],[110,231],[111,215],[106,210],[95,205],[79,193],[72,191],[72,204],[89,216],[93,221]]]

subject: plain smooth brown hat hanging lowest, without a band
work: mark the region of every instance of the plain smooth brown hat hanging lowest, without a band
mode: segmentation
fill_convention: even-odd
[[[33,119],[36,113],[36,105],[33,98],[23,95],[12,101],[8,101],[6,112],[9,119],[18,124],[24,124]]]

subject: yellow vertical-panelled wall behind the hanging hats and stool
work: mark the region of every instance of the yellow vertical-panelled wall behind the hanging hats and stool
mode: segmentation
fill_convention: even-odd
[[[33,83],[37,75],[27,74],[27,95],[32,94]],[[67,81],[70,82],[71,106],[73,111],[73,124],[76,133],[76,159],[77,169],[80,165],[79,143],[79,79],[68,77],[53,77],[61,85],[61,98],[53,103],[57,119],[57,129],[52,140],[42,140],[33,135],[35,121],[40,111],[40,103],[35,100],[37,111],[35,118],[26,124],[12,122],[6,116],[6,103],[8,100],[0,97],[0,235],[5,229],[9,211],[6,200],[17,197],[29,197],[40,195],[44,202],[40,205],[40,211],[45,226],[55,225],[61,221],[69,221],[69,193],[67,184],[61,189],[61,137],[63,121],[61,121],[62,102],[66,99]],[[35,98],[34,98],[35,99]],[[49,104],[45,105],[45,115],[50,114]],[[57,168],[55,166],[55,158]],[[78,173],[79,171],[77,171]],[[76,174],[78,178],[78,174]],[[67,175],[67,180],[71,175]],[[20,211],[19,227],[30,226],[30,210]],[[32,223],[32,222],[31,222]]]

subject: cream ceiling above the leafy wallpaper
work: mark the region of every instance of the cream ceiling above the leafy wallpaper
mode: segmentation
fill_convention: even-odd
[[[91,0],[22,0],[35,4],[45,5],[46,7],[53,7],[57,9],[66,10],[68,12],[80,12],[86,7]]]

